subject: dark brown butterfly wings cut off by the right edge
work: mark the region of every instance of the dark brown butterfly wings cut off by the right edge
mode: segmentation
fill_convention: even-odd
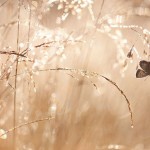
[[[143,78],[150,75],[150,62],[141,60],[139,65],[142,69],[138,69],[136,72],[136,78]]]

